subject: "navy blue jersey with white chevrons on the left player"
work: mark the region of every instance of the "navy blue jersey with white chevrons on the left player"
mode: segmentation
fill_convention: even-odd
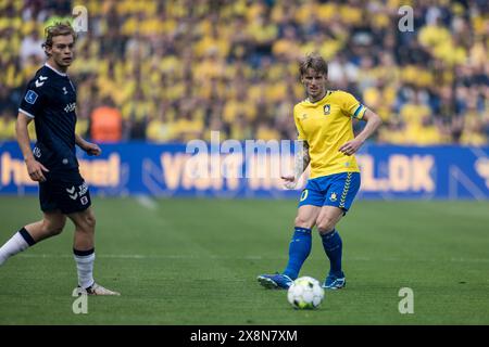
[[[34,118],[33,153],[50,171],[78,167],[75,149],[76,90],[66,74],[45,64],[28,82],[18,112]]]

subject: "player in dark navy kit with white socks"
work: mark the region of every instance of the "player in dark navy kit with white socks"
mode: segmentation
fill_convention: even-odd
[[[74,60],[76,34],[64,23],[48,27],[46,33],[48,60],[27,85],[15,128],[29,177],[39,182],[43,218],[23,227],[0,248],[0,265],[61,233],[67,217],[76,227],[73,253],[78,286],[74,294],[120,295],[93,281],[96,218],[88,187],[78,170],[75,144],[89,155],[100,155],[101,150],[75,133],[76,89],[66,70]],[[27,131],[33,120],[37,137],[34,150]]]

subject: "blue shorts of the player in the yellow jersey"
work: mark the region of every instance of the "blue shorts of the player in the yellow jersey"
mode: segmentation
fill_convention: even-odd
[[[301,193],[303,205],[336,206],[350,209],[360,189],[360,172],[341,172],[310,179]]]

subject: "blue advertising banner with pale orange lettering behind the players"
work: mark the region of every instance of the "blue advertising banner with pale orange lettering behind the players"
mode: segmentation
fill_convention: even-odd
[[[277,142],[278,143],[278,142]],[[229,147],[117,143],[102,155],[79,152],[80,171],[92,194],[298,198],[280,172],[293,165],[292,145],[235,141]],[[209,153],[208,153],[209,152]],[[365,145],[360,198],[489,198],[489,147]],[[0,144],[0,194],[35,194],[16,142]]]

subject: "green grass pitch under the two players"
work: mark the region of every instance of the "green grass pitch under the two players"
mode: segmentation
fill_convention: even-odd
[[[314,311],[258,274],[283,270],[294,201],[95,197],[98,282],[74,314],[73,224],[0,268],[0,324],[489,324],[489,202],[358,201],[338,226],[347,288]],[[0,243],[40,218],[36,197],[1,197]],[[324,280],[314,232],[301,275]],[[401,287],[414,313],[398,310]]]

